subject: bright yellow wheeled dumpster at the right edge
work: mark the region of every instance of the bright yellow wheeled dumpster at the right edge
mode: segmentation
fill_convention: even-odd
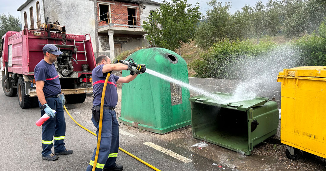
[[[302,150],[326,158],[326,66],[284,69],[277,82],[286,156],[297,159]]]

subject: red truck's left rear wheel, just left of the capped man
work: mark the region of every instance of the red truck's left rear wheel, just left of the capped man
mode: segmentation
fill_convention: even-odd
[[[33,102],[32,97],[29,97],[25,94],[25,82],[23,77],[18,78],[17,84],[18,91],[18,103],[22,109],[31,108]]]

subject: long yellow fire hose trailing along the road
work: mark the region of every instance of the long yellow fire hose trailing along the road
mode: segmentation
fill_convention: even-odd
[[[96,155],[95,155],[95,159],[94,159],[94,165],[93,165],[93,169],[92,171],[95,171],[96,168],[96,163],[97,163],[97,158],[98,158],[98,152],[99,152],[99,148],[100,148],[100,143],[101,143],[101,133],[102,133],[102,119],[103,119],[103,106],[104,106],[104,96],[105,96],[105,90],[106,90],[106,85],[108,84],[108,80],[109,77],[111,75],[111,72],[108,73],[108,75],[105,78],[105,82],[104,82],[104,86],[103,86],[103,92],[102,92],[102,98],[101,98],[101,107],[100,107],[100,122],[99,122],[99,127],[98,127],[98,137],[97,137],[97,146],[96,146]],[[63,106],[67,112],[67,114],[69,115],[69,117],[80,127],[82,127],[83,129],[85,129],[86,131],[92,133],[93,135],[96,136],[96,133],[89,131],[87,128],[83,127],[82,125],[80,125],[73,117],[71,117],[71,115],[69,114],[66,106]],[[152,168],[155,171],[160,171],[159,169],[157,169],[156,167],[146,163],[145,161],[141,160],[140,158],[134,156],[133,154],[129,153],[128,151],[122,149],[119,147],[119,150],[125,152],[126,154],[128,154],[129,156],[135,158],[136,160],[140,161],[141,163],[147,165],[148,167]]]

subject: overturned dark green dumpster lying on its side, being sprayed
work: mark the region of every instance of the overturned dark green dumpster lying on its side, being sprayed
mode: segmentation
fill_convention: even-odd
[[[213,94],[221,99],[232,97],[226,93]],[[255,145],[277,132],[277,103],[268,98],[224,103],[199,95],[189,101],[195,138],[250,155]]]

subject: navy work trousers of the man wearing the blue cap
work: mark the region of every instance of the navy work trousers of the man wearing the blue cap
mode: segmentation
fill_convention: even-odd
[[[65,115],[62,108],[62,101],[59,97],[57,98],[46,98],[46,102],[49,107],[56,111],[55,117],[50,117],[42,125],[42,156],[46,157],[52,153],[51,148],[53,146],[53,135],[54,135],[54,152],[59,153],[64,150],[65,134],[66,134],[66,121]],[[38,101],[39,106],[41,103]],[[44,110],[41,110],[41,116],[46,115]]]

